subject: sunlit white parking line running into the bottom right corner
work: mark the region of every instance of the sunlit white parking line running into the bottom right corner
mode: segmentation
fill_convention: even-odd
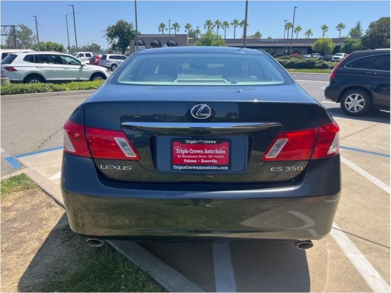
[[[331,229],[331,237],[333,237],[341,250],[344,251],[350,262],[367,282],[370,289],[376,293],[389,293],[389,284],[387,284],[383,277],[375,270],[364,254],[359,251],[343,231],[340,231],[341,228],[339,228],[337,224],[333,223],[333,228],[335,229]]]

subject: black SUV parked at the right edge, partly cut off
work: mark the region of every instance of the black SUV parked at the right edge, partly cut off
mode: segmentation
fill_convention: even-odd
[[[390,109],[390,49],[355,51],[334,67],[325,97],[348,115]]]

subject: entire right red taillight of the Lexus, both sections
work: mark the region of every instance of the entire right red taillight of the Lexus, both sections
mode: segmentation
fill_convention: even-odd
[[[335,122],[281,132],[265,151],[262,161],[301,161],[334,156],[339,153],[338,133],[339,127]]]

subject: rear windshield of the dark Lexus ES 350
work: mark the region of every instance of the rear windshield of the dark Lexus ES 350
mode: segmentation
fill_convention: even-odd
[[[118,84],[261,85],[290,84],[268,55],[165,53],[133,55],[112,80]]]

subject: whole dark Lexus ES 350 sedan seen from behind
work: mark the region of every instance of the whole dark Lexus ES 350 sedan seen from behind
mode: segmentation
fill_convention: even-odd
[[[304,249],[331,229],[339,127],[263,51],[138,51],[64,128],[63,198],[90,244],[209,237]]]

